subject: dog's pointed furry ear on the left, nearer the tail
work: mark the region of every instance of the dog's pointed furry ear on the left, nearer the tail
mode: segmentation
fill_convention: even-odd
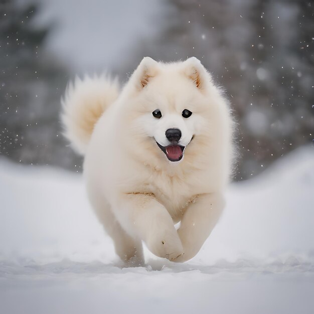
[[[133,74],[136,87],[139,90],[143,89],[157,72],[158,62],[149,57],[144,57]]]

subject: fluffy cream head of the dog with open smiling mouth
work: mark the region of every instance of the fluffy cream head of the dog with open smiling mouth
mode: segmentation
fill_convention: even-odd
[[[123,93],[132,121],[129,131],[140,138],[141,153],[174,164],[185,154],[202,153],[194,143],[210,140],[210,129],[217,122],[215,108],[222,101],[210,74],[195,57],[169,64],[145,57]]]

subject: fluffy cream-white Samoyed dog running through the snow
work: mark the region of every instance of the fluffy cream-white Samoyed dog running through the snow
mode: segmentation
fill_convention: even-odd
[[[77,79],[62,118],[119,257],[142,261],[141,241],[171,261],[195,256],[224,207],[233,156],[228,102],[200,61],[143,58],[120,94],[108,78]]]

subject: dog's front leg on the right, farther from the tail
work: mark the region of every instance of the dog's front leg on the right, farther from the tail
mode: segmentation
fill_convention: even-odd
[[[194,257],[214,229],[225,201],[220,193],[201,194],[189,205],[178,229],[184,254],[175,262]]]

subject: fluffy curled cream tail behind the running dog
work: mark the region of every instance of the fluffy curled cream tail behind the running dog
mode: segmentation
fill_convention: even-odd
[[[94,125],[119,94],[118,81],[106,76],[76,78],[61,99],[64,135],[73,148],[85,154]]]

